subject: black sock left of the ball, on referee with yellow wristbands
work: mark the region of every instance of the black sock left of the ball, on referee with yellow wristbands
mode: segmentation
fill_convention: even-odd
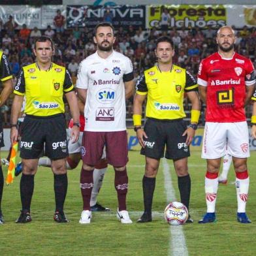
[[[151,215],[153,191],[155,191],[155,178],[148,178],[146,176],[143,176],[142,186],[144,197],[144,211]]]

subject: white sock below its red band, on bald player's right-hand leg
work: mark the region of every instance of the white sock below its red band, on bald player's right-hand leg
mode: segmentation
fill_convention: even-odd
[[[240,180],[236,178],[237,212],[246,212],[246,202],[249,191],[249,177]]]

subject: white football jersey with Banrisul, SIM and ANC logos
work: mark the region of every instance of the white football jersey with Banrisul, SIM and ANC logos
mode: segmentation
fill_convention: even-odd
[[[106,59],[95,52],[80,63],[77,78],[76,88],[87,89],[85,131],[124,131],[124,81],[133,80],[131,60],[115,51]]]

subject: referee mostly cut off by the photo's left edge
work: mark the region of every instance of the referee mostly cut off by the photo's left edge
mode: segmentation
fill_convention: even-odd
[[[10,63],[8,61],[7,56],[0,51],[0,81],[3,86],[3,91],[0,95],[0,107],[5,104],[7,101],[10,93],[12,93],[12,73],[10,72]],[[0,148],[5,146],[3,142],[3,122],[0,117]],[[3,195],[3,170],[0,161],[0,225],[4,223],[3,214],[1,210],[1,202],[2,202],[2,195]]]

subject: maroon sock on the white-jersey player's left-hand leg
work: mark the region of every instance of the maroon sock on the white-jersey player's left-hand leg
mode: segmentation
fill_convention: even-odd
[[[91,191],[93,189],[93,170],[84,170],[84,168],[82,168],[80,174],[80,187],[84,202],[83,209],[91,210],[89,201],[91,200]]]

